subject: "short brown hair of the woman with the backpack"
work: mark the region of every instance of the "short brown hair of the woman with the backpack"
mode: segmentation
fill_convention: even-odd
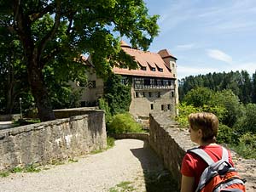
[[[218,133],[218,117],[213,113],[199,112],[191,113],[189,115],[189,125],[193,130],[202,131],[202,141],[204,142],[216,142],[216,136]]]

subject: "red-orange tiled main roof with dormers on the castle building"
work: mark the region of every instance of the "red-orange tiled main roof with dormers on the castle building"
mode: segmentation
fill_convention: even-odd
[[[129,70],[119,67],[113,67],[113,72],[115,74],[129,76],[153,76],[163,78],[175,78],[172,74],[172,70],[166,66],[166,63],[161,58],[160,54],[133,49],[124,41],[121,42],[121,48],[125,51],[126,54],[130,54],[135,58],[138,64],[138,69]],[[168,53],[167,50],[166,52]],[[169,54],[169,56],[171,56],[171,54]],[[141,67],[146,67],[146,71],[142,70]],[[152,68],[154,68],[155,71],[152,71]]]

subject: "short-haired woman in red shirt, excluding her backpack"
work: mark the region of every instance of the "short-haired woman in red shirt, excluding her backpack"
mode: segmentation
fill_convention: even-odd
[[[205,150],[212,157],[213,161],[222,158],[222,147],[216,144],[216,136],[218,133],[218,118],[212,113],[192,113],[189,115],[189,133],[191,141],[199,144],[202,150]],[[231,160],[229,151],[229,161]],[[181,173],[182,184],[181,192],[195,192],[199,183],[201,173],[207,167],[207,163],[200,156],[194,153],[187,153],[183,157]]]

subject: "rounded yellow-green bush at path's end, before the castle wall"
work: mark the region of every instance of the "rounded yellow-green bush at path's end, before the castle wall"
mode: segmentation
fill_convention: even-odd
[[[107,131],[108,133],[140,133],[143,129],[129,113],[124,113],[113,116]]]

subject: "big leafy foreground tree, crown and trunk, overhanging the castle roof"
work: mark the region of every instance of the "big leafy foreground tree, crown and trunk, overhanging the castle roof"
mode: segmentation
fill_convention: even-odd
[[[124,59],[119,37],[147,49],[158,33],[158,16],[148,16],[143,0],[1,0],[0,7],[0,36],[9,31],[22,44],[41,121],[55,119],[44,78],[48,65],[55,75],[61,71],[70,77],[79,71],[80,54],[90,53],[97,74],[107,76],[117,60]]]

